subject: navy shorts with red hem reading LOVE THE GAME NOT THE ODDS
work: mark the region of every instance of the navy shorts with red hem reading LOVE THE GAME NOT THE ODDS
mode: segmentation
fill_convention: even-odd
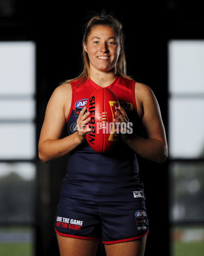
[[[65,237],[113,244],[139,239],[149,230],[145,201],[91,202],[60,197],[55,231]]]

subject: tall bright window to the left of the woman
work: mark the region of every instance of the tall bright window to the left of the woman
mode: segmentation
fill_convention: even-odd
[[[35,43],[0,42],[0,251],[33,255]]]

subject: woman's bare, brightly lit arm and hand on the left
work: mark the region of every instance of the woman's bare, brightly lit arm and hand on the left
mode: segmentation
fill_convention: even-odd
[[[71,106],[71,97],[71,86],[64,84],[55,89],[48,102],[38,145],[39,158],[44,163],[68,154],[85,140],[86,129],[81,131],[81,134],[73,133],[62,138]],[[78,121],[85,120],[86,123],[90,113],[83,115],[85,110],[86,108],[81,111]]]

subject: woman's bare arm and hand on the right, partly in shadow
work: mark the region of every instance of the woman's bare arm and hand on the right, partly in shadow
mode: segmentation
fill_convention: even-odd
[[[146,130],[147,138],[136,134],[121,134],[121,138],[138,155],[162,163],[167,158],[167,141],[158,102],[152,90],[143,84],[136,83],[135,95],[138,115]],[[122,108],[120,112],[121,114],[116,115],[122,122],[128,122]]]

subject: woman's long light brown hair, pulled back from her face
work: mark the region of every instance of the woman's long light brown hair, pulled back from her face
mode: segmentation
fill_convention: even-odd
[[[89,37],[89,34],[90,34],[91,30],[96,26],[111,27],[115,31],[116,35],[119,38],[120,46],[123,46],[124,34],[122,31],[122,24],[116,18],[114,18],[112,15],[103,15],[103,14],[91,18],[89,20],[89,22],[86,24],[85,31],[84,31],[84,37],[83,37],[83,41],[82,41],[82,46],[84,45],[84,43],[87,44],[87,39]],[[83,47],[83,56],[82,57],[83,57],[83,71],[81,72],[80,75],[78,75],[74,79],[65,81],[65,83],[79,80],[79,83],[77,84],[77,86],[78,86],[78,85],[83,84],[86,80],[90,79],[89,58],[88,58],[88,54],[85,51],[84,47]],[[118,61],[116,64],[116,71],[121,76],[131,79],[130,76],[126,75],[126,60],[125,60],[124,50],[120,53],[120,55],[118,57]]]

